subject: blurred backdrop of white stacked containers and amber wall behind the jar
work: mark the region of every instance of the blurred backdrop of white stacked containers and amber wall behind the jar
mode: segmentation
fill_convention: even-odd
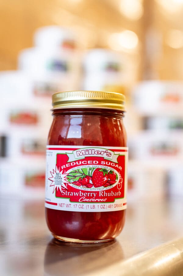
[[[183,0],[0,4],[0,193],[44,199],[56,91],[126,96],[128,201],[183,195]],[[20,193],[21,191],[21,193]]]

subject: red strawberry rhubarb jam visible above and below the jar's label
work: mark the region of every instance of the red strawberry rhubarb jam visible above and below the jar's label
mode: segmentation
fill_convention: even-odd
[[[127,137],[123,117],[124,111],[113,109],[53,110],[53,122],[47,144],[126,147]],[[114,239],[120,234],[124,227],[125,213],[126,210],[80,212],[46,207],[46,221],[49,230],[58,239],[65,237],[63,239],[65,241],[102,242]]]

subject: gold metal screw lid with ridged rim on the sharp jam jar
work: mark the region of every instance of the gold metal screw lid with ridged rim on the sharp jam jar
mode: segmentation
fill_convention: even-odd
[[[53,110],[63,108],[107,108],[125,111],[125,96],[117,92],[66,91],[52,95]]]

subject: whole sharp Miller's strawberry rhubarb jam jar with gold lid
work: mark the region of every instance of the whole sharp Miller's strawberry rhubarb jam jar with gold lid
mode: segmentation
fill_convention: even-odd
[[[127,207],[124,95],[68,91],[52,96],[48,135],[46,221],[61,241],[113,240]]]

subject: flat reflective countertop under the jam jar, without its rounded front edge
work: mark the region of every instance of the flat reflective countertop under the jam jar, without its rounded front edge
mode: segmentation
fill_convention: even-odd
[[[182,198],[131,202],[114,241],[67,244],[49,233],[44,200],[1,196],[0,275],[100,275],[114,264],[118,270],[122,260],[182,236],[182,212]]]

